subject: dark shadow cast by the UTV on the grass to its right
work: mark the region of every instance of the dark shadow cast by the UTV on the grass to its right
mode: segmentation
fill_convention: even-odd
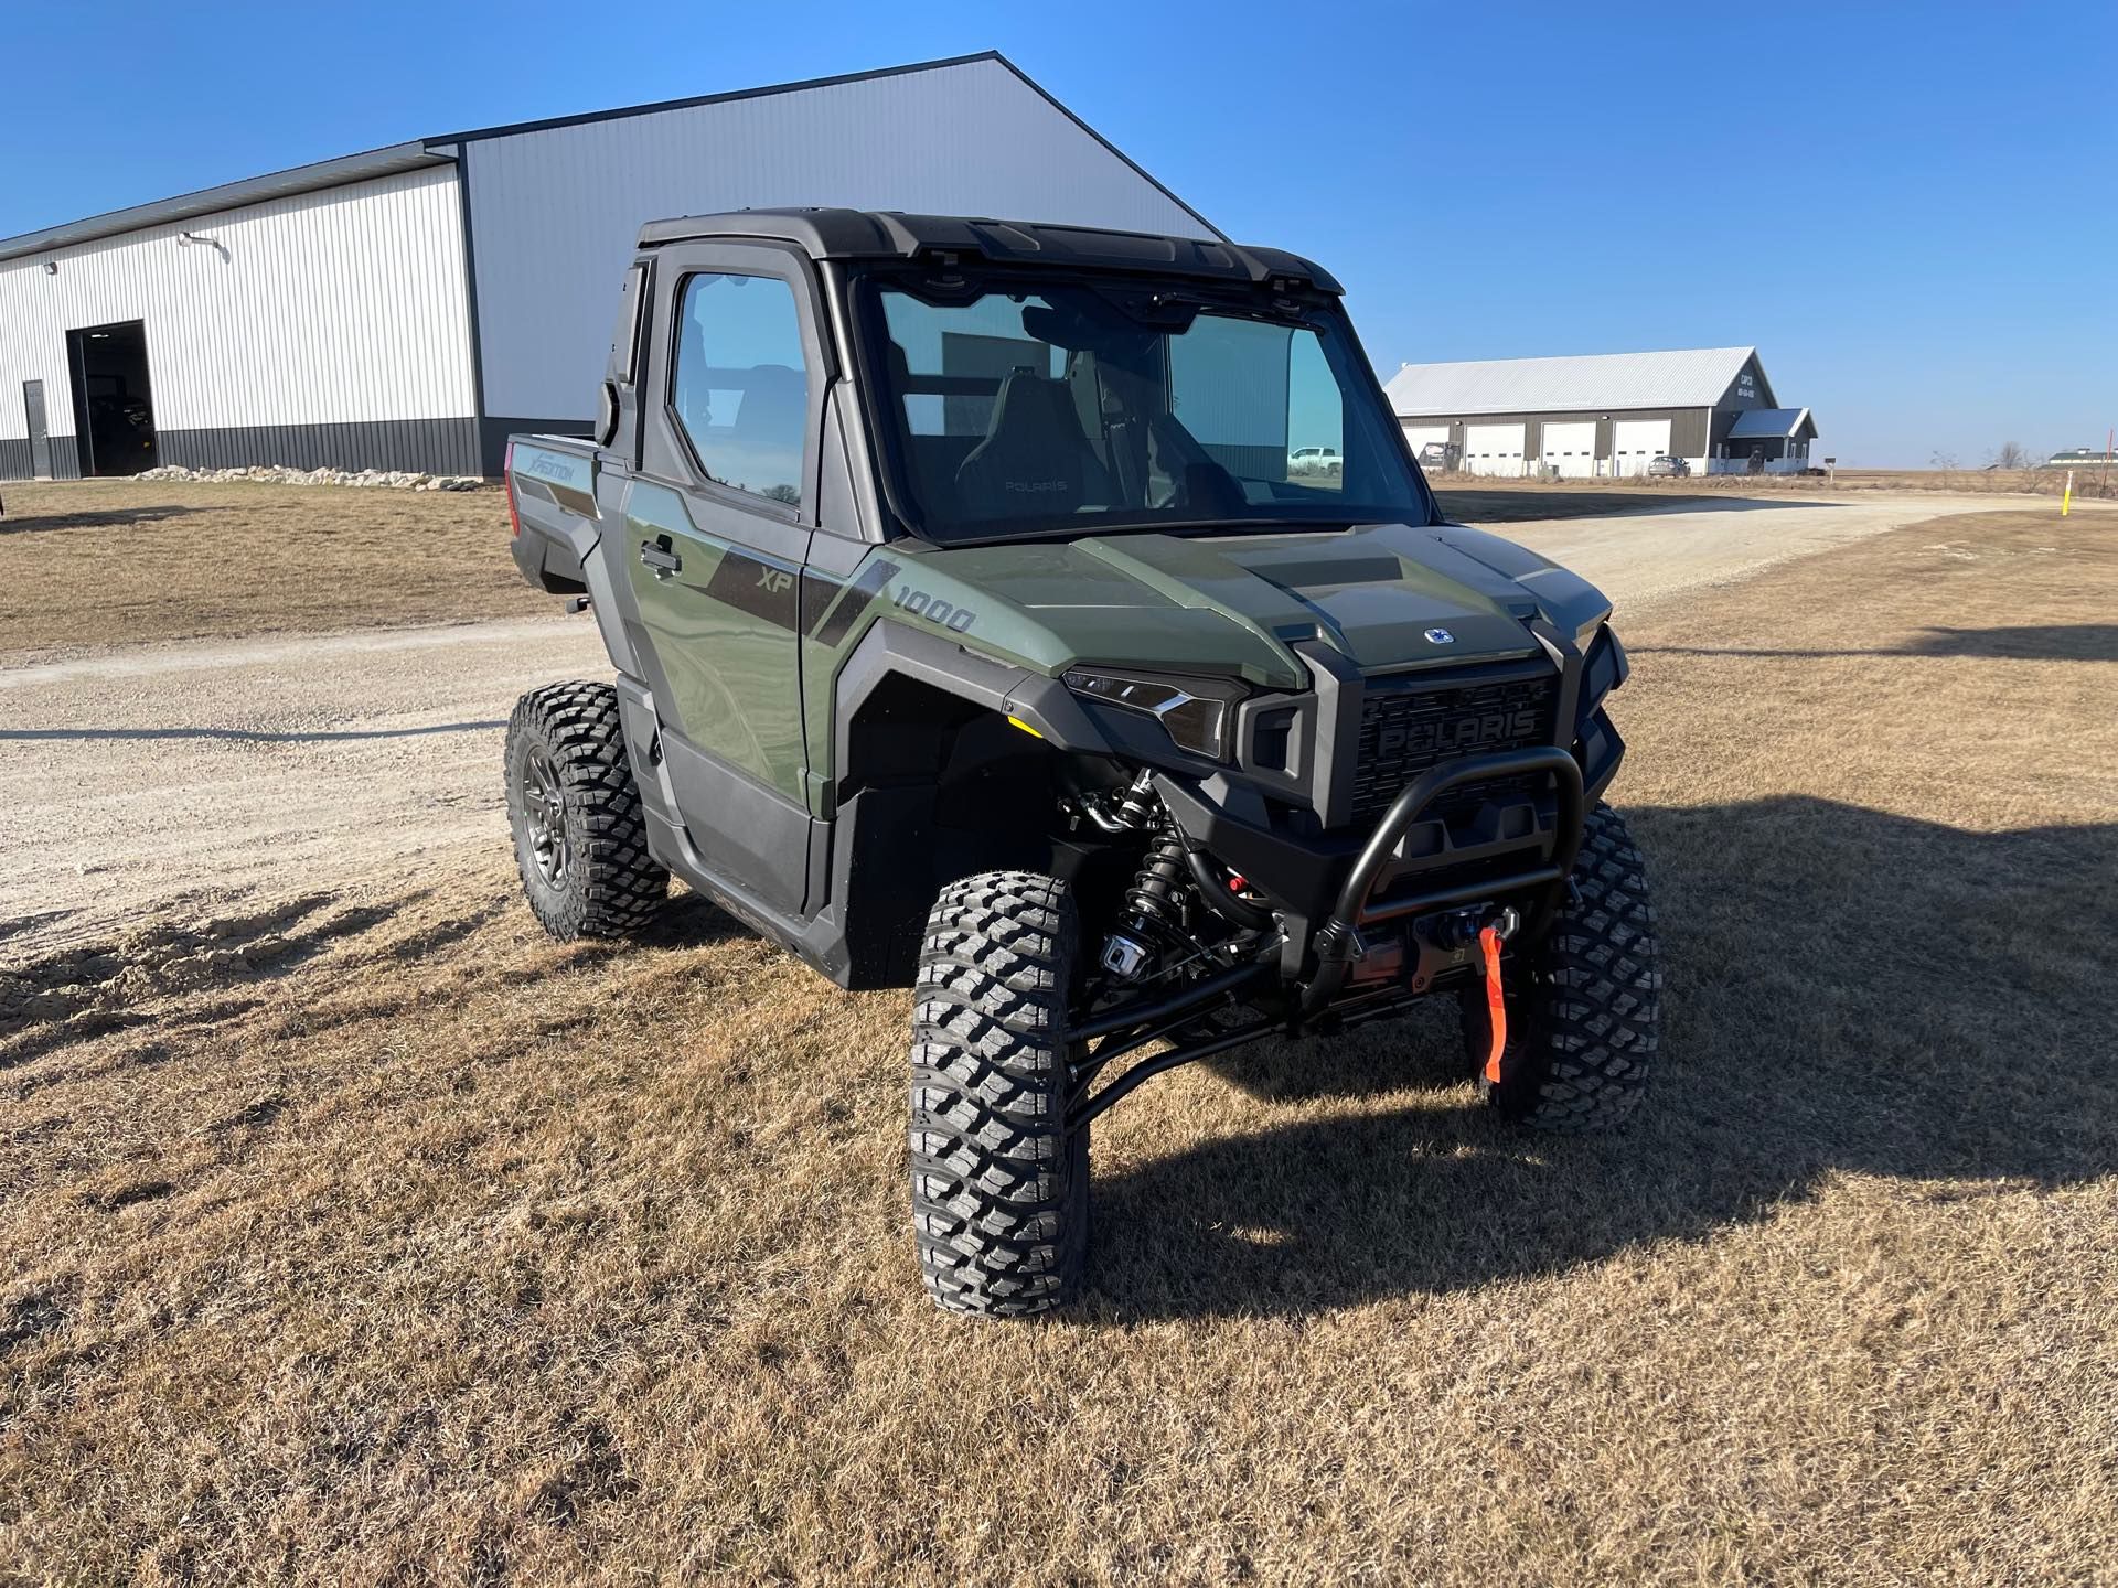
[[[1667,1001],[1625,1131],[1502,1124],[1444,1018],[1262,1046],[1222,1073],[1267,1099],[1428,1097],[1097,1179],[1091,1306],[1303,1315],[1705,1239],[1836,1171],[1972,1196],[2118,1169],[2118,824],[1982,834],[1813,798],[1631,822]]]

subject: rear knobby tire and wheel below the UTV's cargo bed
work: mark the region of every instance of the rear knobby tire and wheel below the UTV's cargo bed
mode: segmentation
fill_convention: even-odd
[[[669,896],[610,684],[546,684],[508,718],[508,828],[542,927],[570,942],[633,932]]]

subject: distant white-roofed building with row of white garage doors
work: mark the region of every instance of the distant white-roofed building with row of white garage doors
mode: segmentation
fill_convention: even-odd
[[[1756,347],[1406,364],[1385,381],[1413,453],[1468,474],[1694,474],[1809,466],[1809,409],[1781,409]]]

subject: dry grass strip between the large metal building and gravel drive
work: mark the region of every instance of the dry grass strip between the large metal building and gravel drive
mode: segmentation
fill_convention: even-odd
[[[68,481],[0,500],[8,661],[553,610],[506,557],[498,489]]]

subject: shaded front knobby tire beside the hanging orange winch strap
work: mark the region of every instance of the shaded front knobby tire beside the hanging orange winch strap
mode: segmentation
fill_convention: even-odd
[[[1485,985],[1461,995],[1480,1093],[1540,1131],[1620,1124],[1639,1107],[1661,1046],[1663,968],[1646,868],[1608,805],[1588,813],[1574,887],[1580,898],[1561,906],[1544,942],[1506,961],[1508,1046],[1497,1086],[1485,1080],[1493,1040]]]

